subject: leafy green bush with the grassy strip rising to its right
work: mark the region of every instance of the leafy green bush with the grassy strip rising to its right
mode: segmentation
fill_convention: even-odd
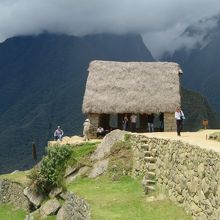
[[[70,145],[55,145],[47,148],[40,166],[34,167],[28,176],[31,186],[36,191],[48,194],[55,187],[64,186],[64,176],[67,166],[79,166],[82,157],[90,154],[96,147],[95,143],[87,143],[79,147]]]

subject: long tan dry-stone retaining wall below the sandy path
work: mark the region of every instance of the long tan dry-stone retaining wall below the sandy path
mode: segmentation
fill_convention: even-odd
[[[156,158],[157,185],[198,220],[220,219],[220,155],[181,141],[132,135],[133,174],[148,172],[146,152]]]

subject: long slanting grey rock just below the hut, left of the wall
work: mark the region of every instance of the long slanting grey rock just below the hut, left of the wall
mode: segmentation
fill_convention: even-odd
[[[124,140],[124,135],[126,134],[125,131],[121,131],[119,129],[114,130],[107,134],[102,142],[98,145],[96,151],[92,154],[91,159],[92,160],[101,160],[106,155],[110,153],[111,147],[116,143],[117,141]]]

